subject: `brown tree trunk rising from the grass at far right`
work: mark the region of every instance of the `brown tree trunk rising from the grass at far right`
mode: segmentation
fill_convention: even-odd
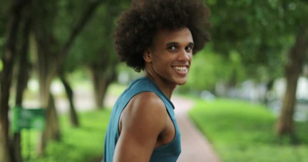
[[[287,88],[283,98],[281,113],[276,125],[276,132],[279,136],[294,135],[293,114],[296,101],[296,87],[299,74],[302,70],[303,60],[308,46],[308,27],[301,28],[296,37],[296,42],[291,48],[285,67]]]

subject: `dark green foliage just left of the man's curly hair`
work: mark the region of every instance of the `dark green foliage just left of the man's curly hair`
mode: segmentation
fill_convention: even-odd
[[[127,1],[106,1],[100,5],[84,31],[76,38],[65,62],[70,69],[78,65],[94,64],[107,68],[117,60],[112,41],[115,21]]]

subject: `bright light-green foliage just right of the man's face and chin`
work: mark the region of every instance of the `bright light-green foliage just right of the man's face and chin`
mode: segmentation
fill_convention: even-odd
[[[224,58],[209,47],[193,57],[187,83],[180,89],[213,90],[217,82],[241,82],[245,77],[245,67],[238,53],[231,52]]]

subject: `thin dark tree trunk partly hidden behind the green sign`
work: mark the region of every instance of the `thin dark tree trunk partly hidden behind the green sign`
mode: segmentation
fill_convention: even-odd
[[[19,70],[18,70],[18,78],[17,78],[17,86],[16,86],[16,101],[15,104],[22,107],[22,99],[23,99],[23,92],[27,87],[27,82],[29,79],[29,68],[30,63],[28,61],[28,48],[29,48],[29,30],[30,30],[30,19],[27,18],[25,25],[24,25],[24,31],[23,31],[23,37],[22,37],[22,47],[20,51],[20,58],[19,58]],[[22,156],[21,156],[21,148],[20,148],[20,132],[14,133],[13,135],[13,161],[15,162],[21,162]]]

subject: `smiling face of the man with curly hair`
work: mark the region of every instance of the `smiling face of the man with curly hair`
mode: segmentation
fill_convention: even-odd
[[[194,41],[188,28],[161,29],[144,52],[145,70],[158,82],[184,85],[193,57]]]

